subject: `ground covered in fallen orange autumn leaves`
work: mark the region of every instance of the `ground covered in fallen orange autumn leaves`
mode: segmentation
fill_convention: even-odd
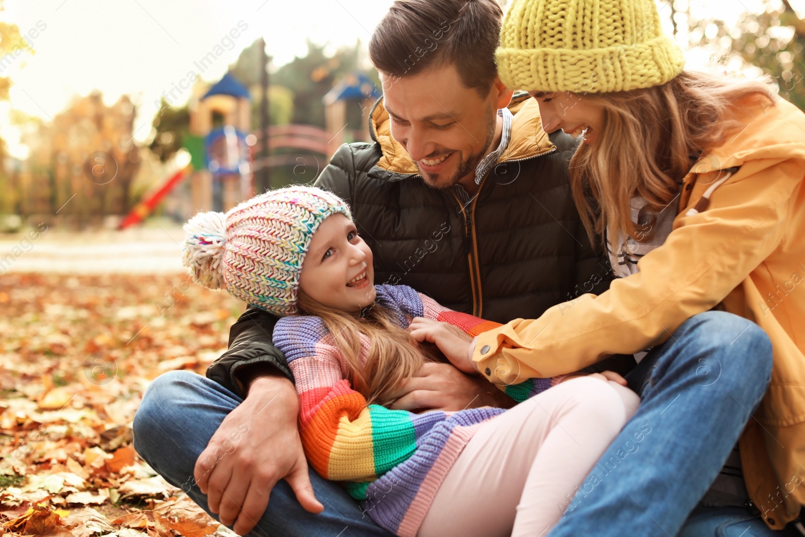
[[[204,374],[241,303],[186,275],[7,273],[0,309],[0,534],[227,534],[139,458],[131,422],[151,379]]]

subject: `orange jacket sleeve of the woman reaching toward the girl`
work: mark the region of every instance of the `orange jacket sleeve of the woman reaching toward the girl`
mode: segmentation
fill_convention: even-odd
[[[667,341],[685,320],[719,304],[785,236],[802,162],[753,160],[713,192],[710,209],[677,217],[639,272],[601,295],[581,295],[539,319],[515,319],[478,337],[475,366],[492,382],[549,377],[609,354]],[[759,186],[762,185],[762,186]]]

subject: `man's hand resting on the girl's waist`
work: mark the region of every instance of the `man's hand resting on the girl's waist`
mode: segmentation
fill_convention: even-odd
[[[513,406],[514,400],[506,397],[485,378],[471,377],[450,364],[427,362],[403,385],[391,408],[460,411],[465,408]]]

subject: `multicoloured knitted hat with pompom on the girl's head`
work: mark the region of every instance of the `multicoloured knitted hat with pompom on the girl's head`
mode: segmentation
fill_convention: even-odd
[[[313,233],[335,213],[352,219],[343,200],[304,186],[265,192],[226,214],[198,213],[184,225],[182,264],[204,287],[291,315]]]

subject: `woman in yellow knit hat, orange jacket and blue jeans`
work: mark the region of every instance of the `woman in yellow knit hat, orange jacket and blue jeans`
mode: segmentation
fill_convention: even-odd
[[[680,535],[786,527],[805,504],[805,114],[762,83],[684,71],[653,0],[514,0],[497,62],[547,132],[584,135],[574,198],[620,278],[469,353],[440,347],[503,384],[645,356],[638,413],[551,537],[677,535],[738,436],[744,480],[708,492]],[[641,423],[654,432],[625,452]]]

